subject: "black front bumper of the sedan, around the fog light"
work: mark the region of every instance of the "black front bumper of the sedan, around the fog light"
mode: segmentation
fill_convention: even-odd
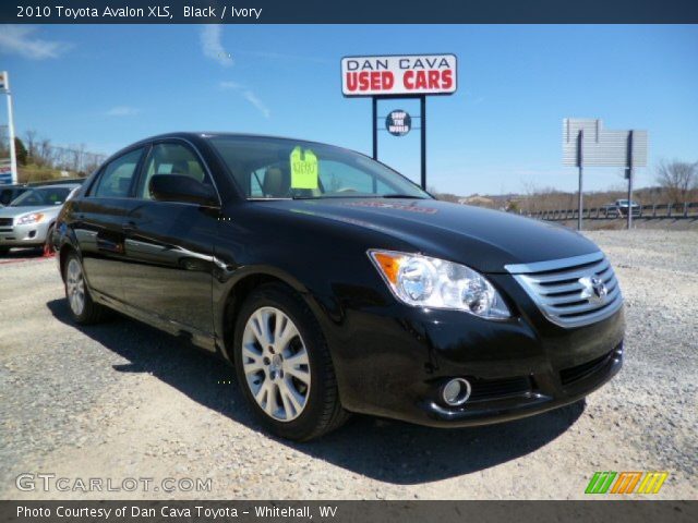
[[[519,297],[525,308],[505,321],[400,304],[348,311],[348,329],[328,336],[342,404],[422,425],[483,425],[574,403],[619,370],[623,308],[565,329]],[[454,377],[472,393],[452,408],[441,388]]]

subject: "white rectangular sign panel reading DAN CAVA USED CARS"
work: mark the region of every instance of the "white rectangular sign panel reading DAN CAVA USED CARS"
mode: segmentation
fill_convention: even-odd
[[[455,54],[345,57],[345,96],[452,95],[457,88]]]

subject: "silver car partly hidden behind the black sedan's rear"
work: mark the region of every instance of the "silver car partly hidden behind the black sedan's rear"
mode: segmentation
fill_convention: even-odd
[[[52,250],[53,223],[79,184],[44,185],[22,193],[0,208],[0,254],[12,247]]]

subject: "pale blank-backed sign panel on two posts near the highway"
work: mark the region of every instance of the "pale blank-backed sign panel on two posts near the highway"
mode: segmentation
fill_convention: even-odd
[[[563,165],[577,167],[579,132],[585,167],[628,167],[630,131],[603,129],[602,120],[566,118],[563,120]],[[647,167],[647,131],[633,131],[633,167]]]

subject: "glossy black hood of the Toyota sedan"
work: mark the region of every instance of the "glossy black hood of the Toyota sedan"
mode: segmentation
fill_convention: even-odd
[[[505,265],[580,256],[599,251],[562,226],[436,199],[333,198],[269,202],[274,207],[378,230],[430,256],[482,272]],[[375,245],[385,247],[385,245]]]

